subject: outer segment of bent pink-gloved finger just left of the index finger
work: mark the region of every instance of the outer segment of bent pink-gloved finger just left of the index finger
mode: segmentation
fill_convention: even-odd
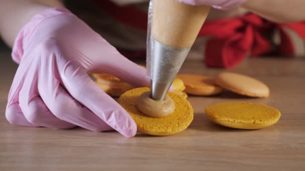
[[[39,81],[38,87],[46,106],[59,119],[93,131],[112,129],[87,107],[76,101],[55,78]]]

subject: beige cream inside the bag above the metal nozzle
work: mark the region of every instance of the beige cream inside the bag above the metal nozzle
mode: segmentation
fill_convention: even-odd
[[[193,6],[175,0],[154,0],[151,33],[159,42],[176,48],[191,47],[210,6]]]

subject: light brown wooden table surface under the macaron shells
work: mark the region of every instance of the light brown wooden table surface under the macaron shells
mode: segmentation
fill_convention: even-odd
[[[83,128],[31,128],[8,123],[7,95],[17,65],[0,54],[0,170],[305,170],[305,60],[252,58],[232,69],[254,76],[271,89],[268,98],[231,92],[189,97],[194,121],[172,136],[119,133]],[[5,57],[4,57],[5,56]],[[3,59],[3,58],[7,58]],[[187,61],[182,73],[215,76],[223,69]],[[259,130],[211,123],[206,105],[228,100],[264,103],[278,108],[278,123]]]

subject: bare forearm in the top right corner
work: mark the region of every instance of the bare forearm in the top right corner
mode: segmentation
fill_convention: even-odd
[[[284,23],[305,20],[305,0],[247,0],[242,7],[266,19]]]

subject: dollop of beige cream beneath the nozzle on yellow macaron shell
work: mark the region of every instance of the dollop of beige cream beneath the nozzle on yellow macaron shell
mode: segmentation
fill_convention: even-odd
[[[136,100],[138,110],[150,117],[165,117],[175,111],[175,102],[170,96],[164,100],[154,100],[149,96],[150,91],[142,93]]]

